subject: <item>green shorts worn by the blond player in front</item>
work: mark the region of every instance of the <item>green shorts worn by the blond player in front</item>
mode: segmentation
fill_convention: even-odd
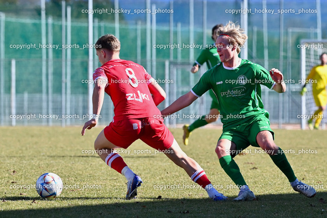
[[[268,117],[264,114],[246,117],[242,120],[237,120],[231,124],[223,125],[223,133],[220,139],[228,139],[236,144],[236,154],[242,152],[247,147],[260,147],[256,142],[256,135],[259,132],[268,130],[274,138],[274,132],[270,128]]]

